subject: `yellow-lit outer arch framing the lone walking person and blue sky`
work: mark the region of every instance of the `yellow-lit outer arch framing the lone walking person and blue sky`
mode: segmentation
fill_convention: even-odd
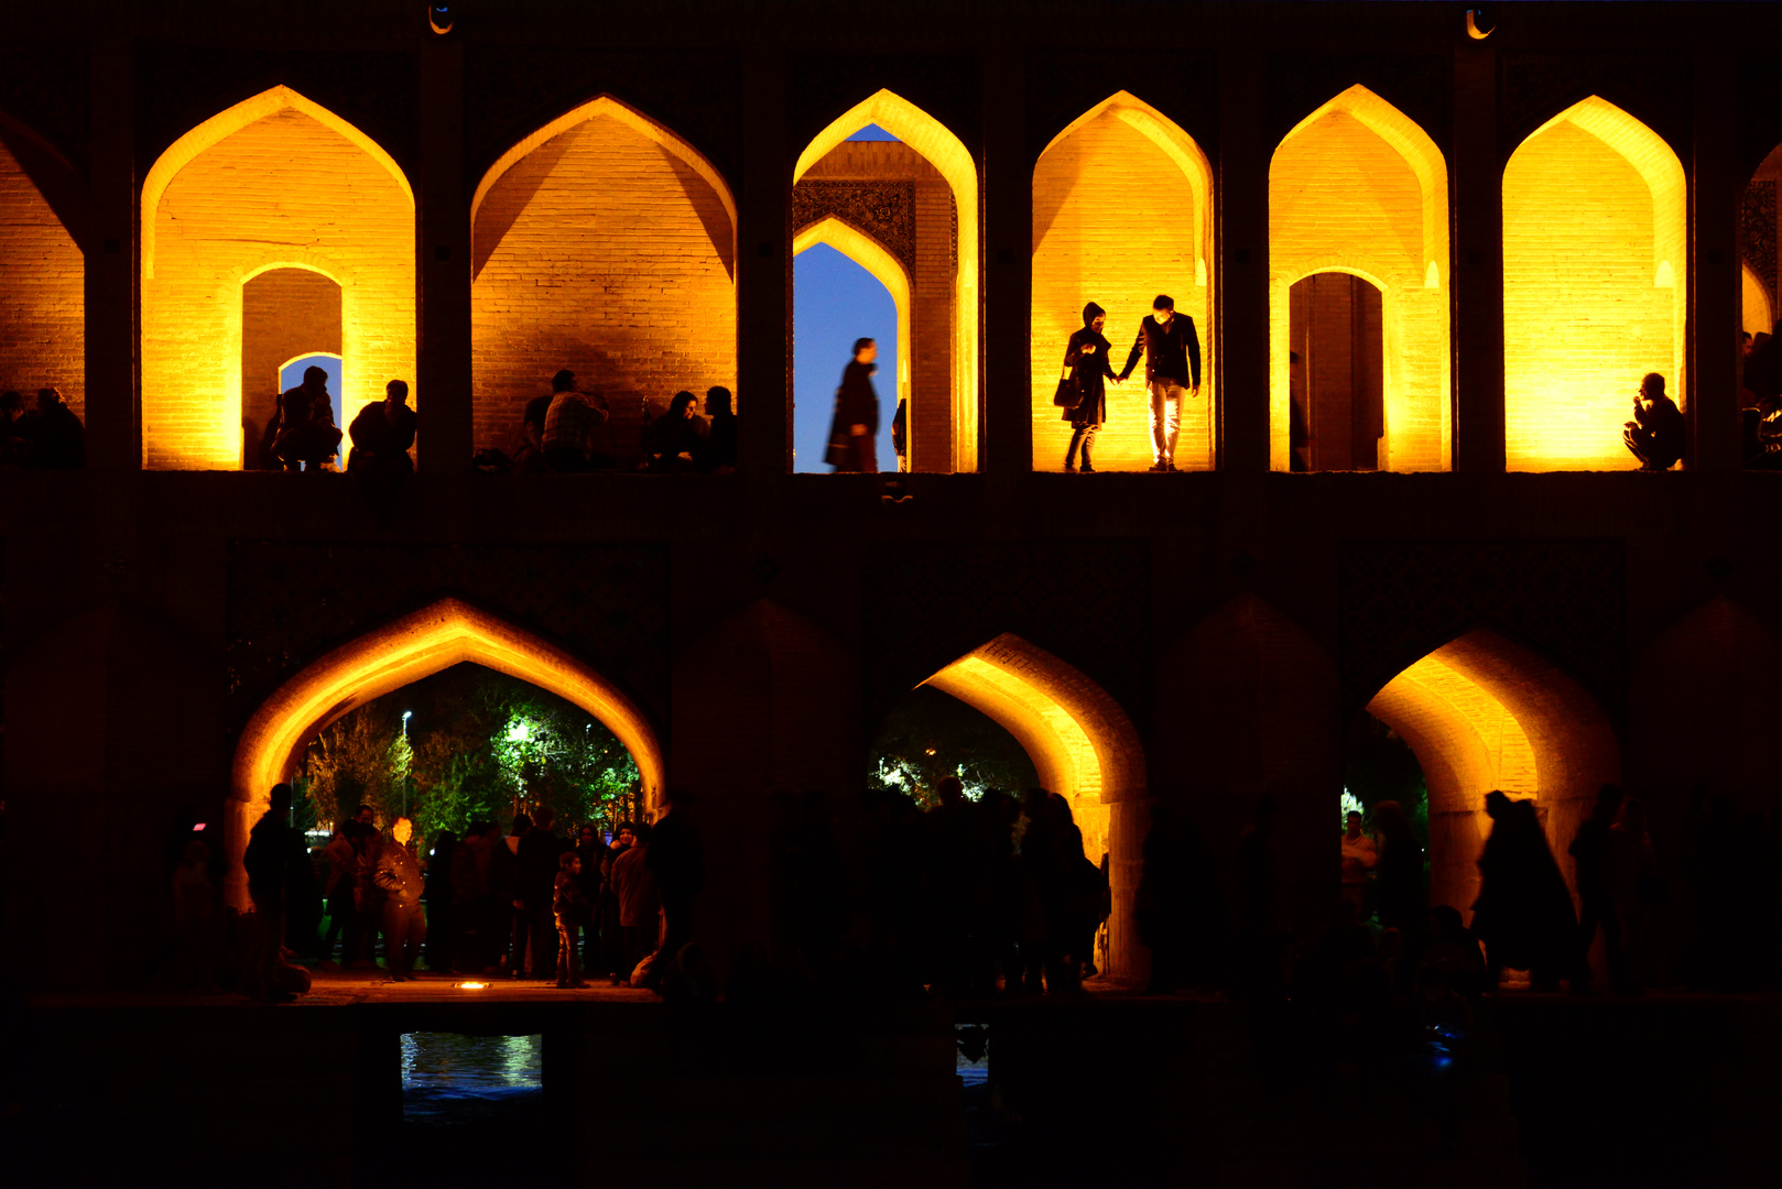
[[[870,125],[896,137],[914,160],[886,162],[879,159],[887,150],[866,153],[845,144]],[[861,155],[855,159],[850,153]],[[971,152],[928,112],[891,91],[877,91],[830,121],[798,155],[791,175],[793,207],[804,214],[795,221],[807,226],[832,212],[825,203],[848,200],[846,193],[814,194],[807,182],[859,189],[852,184],[884,184],[887,178],[879,175],[893,166],[902,169],[900,184],[907,182],[909,189],[900,196],[909,209],[907,219],[896,221],[907,223],[912,330],[923,335],[909,378],[911,458],[923,471],[977,471],[978,168]],[[937,184],[923,185],[925,173],[936,175]],[[928,242],[927,251],[920,248],[923,242]],[[846,360],[838,360],[838,374],[841,364]],[[891,410],[884,410],[884,417],[889,415]]]

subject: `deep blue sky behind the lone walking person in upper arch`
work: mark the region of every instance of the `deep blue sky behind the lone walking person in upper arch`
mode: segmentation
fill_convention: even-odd
[[[866,125],[850,141],[895,141]],[[793,469],[829,474],[823,449],[836,412],[836,389],[855,339],[879,340],[879,469],[896,471],[891,417],[896,414],[896,305],[873,275],[829,244],[807,248],[791,264],[793,283]]]

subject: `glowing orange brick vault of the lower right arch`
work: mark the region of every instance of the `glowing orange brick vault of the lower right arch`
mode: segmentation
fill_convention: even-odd
[[[1493,788],[1533,797],[1570,881],[1566,847],[1597,790],[1622,779],[1602,708],[1534,652],[1486,627],[1388,681],[1367,711],[1410,743],[1429,790],[1429,902],[1470,916]]]

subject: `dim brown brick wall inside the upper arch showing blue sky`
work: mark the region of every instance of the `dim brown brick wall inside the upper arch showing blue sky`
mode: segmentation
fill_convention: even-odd
[[[916,471],[953,469],[953,191],[914,148],[900,141],[843,141],[800,182],[912,182],[916,244],[911,269],[909,428]],[[793,228],[800,230],[800,228]],[[797,333],[797,328],[795,328]],[[902,378],[900,378],[902,383]],[[880,394],[884,401],[886,396]],[[895,410],[886,401],[887,412]],[[889,465],[884,458],[879,465]]]

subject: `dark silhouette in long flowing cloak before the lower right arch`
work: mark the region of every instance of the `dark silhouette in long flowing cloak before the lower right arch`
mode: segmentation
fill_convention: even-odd
[[[1527,970],[1536,991],[1557,991],[1570,973],[1577,914],[1533,800],[1484,795],[1492,836],[1479,856],[1472,932],[1484,941],[1490,986],[1504,970]]]

